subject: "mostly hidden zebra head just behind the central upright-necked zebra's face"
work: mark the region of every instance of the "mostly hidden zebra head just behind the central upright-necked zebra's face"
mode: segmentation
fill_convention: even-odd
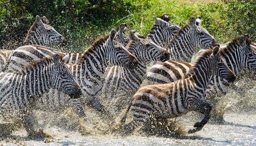
[[[120,27],[117,28],[117,41],[123,46],[126,46],[131,40],[130,37],[125,34],[126,29],[126,23],[122,23]]]

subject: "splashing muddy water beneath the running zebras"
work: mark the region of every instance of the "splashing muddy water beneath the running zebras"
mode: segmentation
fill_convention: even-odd
[[[228,95],[221,97],[226,123],[208,123],[195,134],[187,134],[201,120],[201,115],[193,112],[175,119],[175,128],[183,136],[174,138],[138,131],[123,135],[113,132],[117,127],[114,122],[102,121],[109,117],[86,108],[88,121],[83,121],[68,109],[64,113],[35,111],[39,128],[47,138],[28,139],[20,127],[11,136],[1,138],[0,145],[256,145],[256,80],[240,79],[236,85],[240,91],[230,89]]]

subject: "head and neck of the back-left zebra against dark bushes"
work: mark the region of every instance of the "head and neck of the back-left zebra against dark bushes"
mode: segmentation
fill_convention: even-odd
[[[40,18],[36,15],[36,20],[28,31],[23,44],[43,46],[66,45],[67,40],[48,23],[49,21],[45,16]]]

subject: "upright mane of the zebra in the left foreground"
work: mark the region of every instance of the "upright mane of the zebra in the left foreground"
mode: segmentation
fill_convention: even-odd
[[[60,54],[60,60],[62,60],[63,55]],[[40,65],[41,63],[45,62],[51,62],[53,61],[53,56],[51,57],[44,57],[43,59],[40,59],[38,61],[32,61],[31,63],[27,64],[24,68],[19,70],[19,74],[27,74],[27,70],[30,70],[31,68],[35,67],[36,65]]]

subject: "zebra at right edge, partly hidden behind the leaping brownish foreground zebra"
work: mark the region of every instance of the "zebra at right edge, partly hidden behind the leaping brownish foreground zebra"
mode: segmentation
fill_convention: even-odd
[[[229,68],[236,76],[241,76],[240,72],[246,69],[252,70],[254,74],[256,74],[255,52],[253,42],[251,42],[250,38],[246,35],[234,38],[220,46],[220,55],[222,55],[228,63]],[[164,84],[183,79],[185,75],[188,74],[189,70],[191,70],[191,67],[192,64],[187,62],[172,60],[158,62],[148,70],[146,75],[147,84]],[[210,80],[207,90],[207,99],[213,104],[212,122],[225,122],[223,118],[225,112],[220,112],[221,109],[216,109],[216,97],[226,95],[228,87],[232,87],[232,85],[226,83],[226,81],[219,76],[213,76],[213,79]]]

